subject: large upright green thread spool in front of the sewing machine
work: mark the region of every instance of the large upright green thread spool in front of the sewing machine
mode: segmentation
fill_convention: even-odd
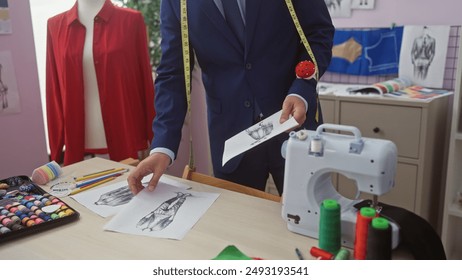
[[[325,199],[321,203],[319,218],[319,248],[334,255],[340,250],[340,204],[333,199]]]

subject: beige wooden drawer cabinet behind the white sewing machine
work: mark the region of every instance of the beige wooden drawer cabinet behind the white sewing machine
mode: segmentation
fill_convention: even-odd
[[[379,197],[379,201],[415,212],[436,230],[441,227],[451,97],[422,102],[378,96],[320,95],[325,123],[355,126],[363,137],[388,139],[396,144],[395,187]],[[356,195],[357,188],[351,180],[338,175],[333,181],[343,195],[351,198]]]

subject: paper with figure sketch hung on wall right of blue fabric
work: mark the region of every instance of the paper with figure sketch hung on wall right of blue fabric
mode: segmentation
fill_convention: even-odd
[[[419,86],[442,88],[449,32],[450,26],[405,26],[399,77]]]

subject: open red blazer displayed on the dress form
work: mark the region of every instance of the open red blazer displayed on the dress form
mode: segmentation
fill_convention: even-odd
[[[51,159],[83,160],[85,112],[83,47],[85,27],[77,4],[48,20],[46,107]],[[146,27],[140,12],[106,0],[95,17],[93,57],[109,156],[138,157],[153,133],[154,85]]]

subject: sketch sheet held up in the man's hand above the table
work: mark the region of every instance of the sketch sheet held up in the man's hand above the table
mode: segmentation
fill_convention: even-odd
[[[298,126],[294,118],[289,118],[287,121],[280,124],[279,119],[281,114],[282,110],[226,140],[222,164],[225,165],[235,156],[266,142],[282,132]]]

